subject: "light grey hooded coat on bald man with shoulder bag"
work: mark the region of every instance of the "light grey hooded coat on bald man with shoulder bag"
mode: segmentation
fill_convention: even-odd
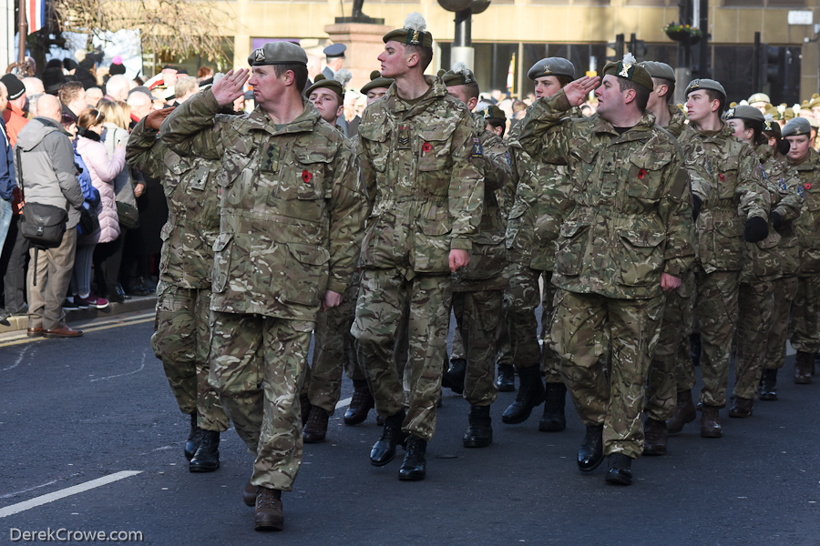
[[[22,165],[17,162],[17,149]],[[67,228],[77,227],[85,199],[77,182],[71,139],[63,126],[47,117],[29,121],[17,135],[15,172],[26,202],[66,208]]]

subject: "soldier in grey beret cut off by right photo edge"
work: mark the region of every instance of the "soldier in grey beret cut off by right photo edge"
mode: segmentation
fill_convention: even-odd
[[[795,117],[783,127],[789,142],[786,156],[797,170],[805,207],[794,220],[800,246],[797,294],[792,308],[792,347],[797,350],[794,382],[807,384],[814,375],[815,354],[820,351],[820,156],[811,147],[808,120]]]

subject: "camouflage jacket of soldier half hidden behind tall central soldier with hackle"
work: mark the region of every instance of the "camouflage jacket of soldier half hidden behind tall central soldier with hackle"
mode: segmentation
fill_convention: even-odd
[[[472,292],[507,288],[507,248],[504,233],[507,214],[502,206],[505,191],[515,184],[512,162],[507,145],[498,136],[487,131],[487,121],[481,114],[473,114],[480,158],[474,158],[484,175],[484,209],[478,236],[470,249],[470,263],[453,275],[453,291]]]

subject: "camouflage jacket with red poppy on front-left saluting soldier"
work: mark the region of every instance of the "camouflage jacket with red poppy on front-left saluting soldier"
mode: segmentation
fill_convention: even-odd
[[[217,115],[213,93],[162,123],[180,156],[220,157],[220,236],[210,308],[313,320],[325,290],[343,293],[355,267],[366,201],[344,136],[304,100],[290,124],[257,107]]]

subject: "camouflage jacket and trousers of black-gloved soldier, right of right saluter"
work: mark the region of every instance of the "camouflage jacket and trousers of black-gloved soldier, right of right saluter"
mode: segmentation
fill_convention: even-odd
[[[723,408],[732,338],[737,324],[740,270],[743,268],[743,227],[748,218],[769,216],[768,192],[760,162],[748,144],[721,122],[715,133],[694,131],[681,136],[706,150],[712,196],[702,204],[696,222],[698,265],[695,312],[701,329],[701,372],[704,405]],[[681,367],[678,392],[695,384],[692,362]]]

